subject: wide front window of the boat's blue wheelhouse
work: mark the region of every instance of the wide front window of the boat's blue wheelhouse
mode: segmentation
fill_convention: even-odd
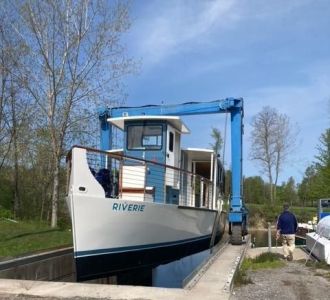
[[[162,148],[161,125],[130,125],[127,127],[128,150],[159,150]]]

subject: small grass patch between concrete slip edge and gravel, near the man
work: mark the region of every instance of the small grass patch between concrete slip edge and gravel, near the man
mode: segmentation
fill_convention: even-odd
[[[280,255],[275,253],[262,253],[255,258],[245,258],[241,267],[235,274],[234,285],[241,286],[253,283],[248,276],[248,270],[274,269],[283,267],[285,263],[281,260]]]

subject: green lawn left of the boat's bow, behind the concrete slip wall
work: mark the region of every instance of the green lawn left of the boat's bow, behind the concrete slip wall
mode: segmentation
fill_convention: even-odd
[[[0,219],[0,260],[72,245],[72,232],[39,222]]]

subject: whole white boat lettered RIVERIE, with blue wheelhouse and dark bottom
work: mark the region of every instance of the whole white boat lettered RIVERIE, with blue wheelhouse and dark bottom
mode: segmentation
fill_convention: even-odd
[[[68,196],[77,280],[156,266],[205,250],[224,231],[223,169],[212,150],[181,149],[179,117],[112,118],[123,149],[73,147]]]

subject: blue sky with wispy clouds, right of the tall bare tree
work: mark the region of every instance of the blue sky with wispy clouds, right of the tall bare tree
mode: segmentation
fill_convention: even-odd
[[[279,182],[301,181],[330,127],[330,1],[135,0],[131,19],[124,43],[141,65],[125,81],[127,105],[243,97],[245,176],[263,175],[249,159],[252,118],[276,108],[299,128]],[[210,147],[211,128],[227,128],[229,168],[230,118],[183,119],[191,130],[184,147]]]

